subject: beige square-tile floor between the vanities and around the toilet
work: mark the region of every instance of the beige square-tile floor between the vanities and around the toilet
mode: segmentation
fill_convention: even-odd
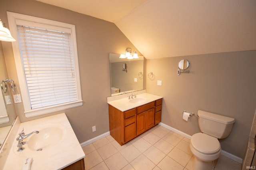
[[[192,170],[190,140],[156,125],[120,146],[110,135],[83,147],[86,170]],[[221,156],[214,170],[240,170]]]

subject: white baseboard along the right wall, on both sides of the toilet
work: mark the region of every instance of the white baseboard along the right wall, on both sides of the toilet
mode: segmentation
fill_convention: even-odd
[[[186,137],[186,138],[188,138],[188,139],[191,139],[191,136],[190,136],[190,135],[188,135],[188,134],[186,134],[186,133],[184,133],[184,132],[182,132],[182,131],[179,131],[178,129],[175,129],[175,128],[173,128],[173,127],[170,127],[170,126],[168,126],[168,125],[166,125],[166,124],[164,124],[164,123],[162,123],[162,122],[160,122],[159,125],[161,125],[162,127],[165,127],[166,129],[169,129],[169,130],[171,130],[171,131],[173,131],[173,132],[175,132],[175,133],[178,133],[179,135],[182,135],[183,137]],[[231,154],[231,153],[229,153],[229,152],[226,152],[225,150],[221,150],[221,154],[222,154],[223,156],[226,156],[226,157],[228,157],[228,158],[230,158],[230,159],[232,159],[232,160],[234,160],[234,161],[236,161],[236,162],[242,164],[243,159],[240,158],[240,157],[238,157],[238,156],[236,156],[236,155],[233,155],[233,154]]]

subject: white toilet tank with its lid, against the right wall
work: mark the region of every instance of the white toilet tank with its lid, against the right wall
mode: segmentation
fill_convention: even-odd
[[[198,110],[197,115],[200,130],[218,139],[228,137],[235,122],[234,118],[202,110]]]

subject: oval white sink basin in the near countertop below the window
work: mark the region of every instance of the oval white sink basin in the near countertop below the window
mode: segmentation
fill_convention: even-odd
[[[47,127],[41,129],[38,134],[33,134],[28,141],[30,150],[45,150],[58,144],[63,138],[62,129],[59,127]]]

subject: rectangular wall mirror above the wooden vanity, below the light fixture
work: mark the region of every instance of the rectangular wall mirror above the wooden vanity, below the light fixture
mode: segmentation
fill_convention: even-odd
[[[111,96],[136,92],[145,89],[145,61],[138,59],[120,59],[120,54],[110,53]]]

